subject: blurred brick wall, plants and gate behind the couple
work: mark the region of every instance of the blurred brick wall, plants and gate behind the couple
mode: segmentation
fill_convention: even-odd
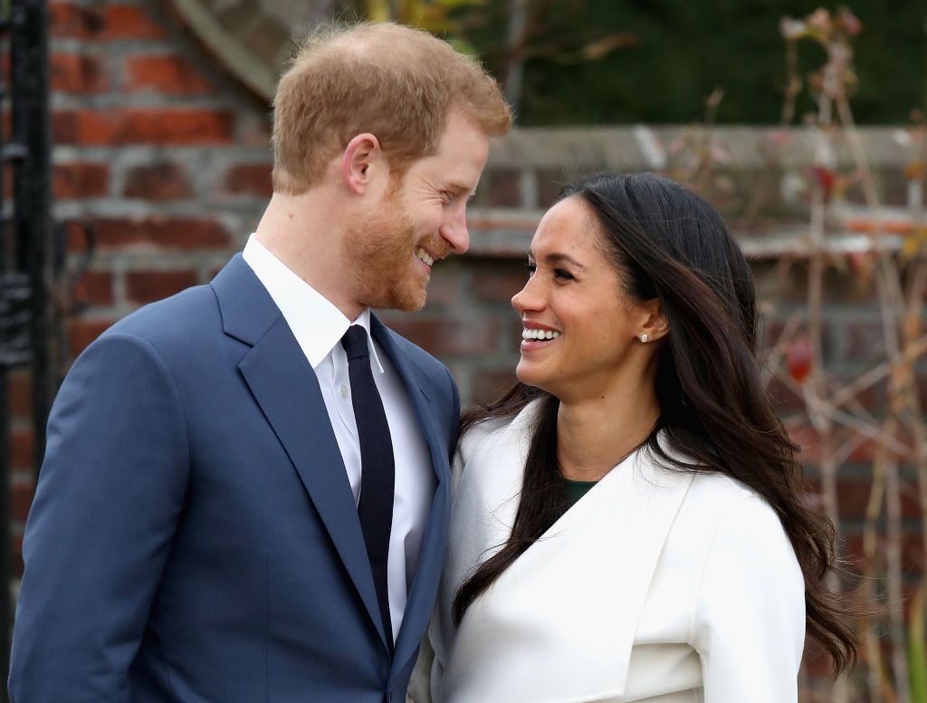
[[[753,262],[769,392],[838,526],[832,585],[875,611],[836,682],[808,648],[802,700],[927,701],[927,7],[897,0],[0,0],[0,653],[61,377],[244,246],[271,195],[276,76],[332,18],[437,33],[517,111],[471,252],[436,267],[424,311],[384,314],[464,403],[512,378],[509,299],[566,180],[666,173],[724,213]]]

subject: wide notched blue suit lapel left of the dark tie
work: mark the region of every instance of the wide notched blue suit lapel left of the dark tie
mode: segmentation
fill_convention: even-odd
[[[296,467],[382,637],[357,506],[318,379],[283,315],[240,255],[222,270],[212,287],[222,309],[225,333],[251,345],[238,368]]]

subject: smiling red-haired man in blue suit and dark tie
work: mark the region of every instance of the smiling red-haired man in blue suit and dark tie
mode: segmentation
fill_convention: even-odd
[[[11,696],[401,700],[444,556],[459,402],[370,308],[467,249],[511,116],[426,34],[311,37],[242,255],[110,328],[49,421]]]

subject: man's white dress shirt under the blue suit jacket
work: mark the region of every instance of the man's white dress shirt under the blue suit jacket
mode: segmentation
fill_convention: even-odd
[[[425,522],[436,487],[428,444],[415,421],[408,391],[387,355],[370,337],[369,308],[351,322],[321,293],[273,256],[254,235],[248,237],[242,255],[283,313],[286,324],[315,371],[328,418],[335,430],[338,449],[348,471],[355,504],[361,495],[361,445],[350,398],[348,357],[340,342],[350,325],[362,326],[367,331],[376,390],[383,400],[396,463],[393,524],[387,557],[389,617],[395,641],[418,565]],[[310,421],[307,417],[306,422]]]

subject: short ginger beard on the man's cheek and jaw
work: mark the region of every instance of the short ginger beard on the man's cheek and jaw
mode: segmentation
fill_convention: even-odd
[[[413,313],[425,306],[428,278],[413,261],[415,224],[400,198],[387,196],[373,213],[352,223],[342,253],[358,302]]]

